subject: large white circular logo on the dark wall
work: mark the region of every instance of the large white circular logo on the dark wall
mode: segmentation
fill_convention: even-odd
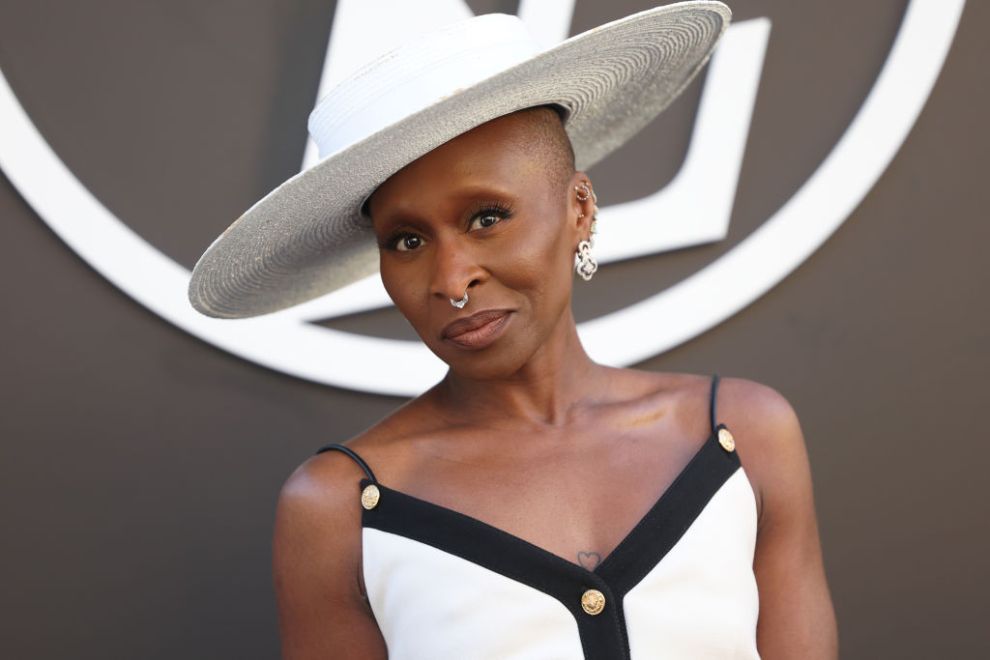
[[[520,17],[549,47],[566,37],[574,0],[522,0]],[[704,332],[753,302],[807,259],[860,203],[921,112],[965,0],[911,0],[873,89],[801,188],[730,252],[674,286],[581,323],[589,354],[633,364]],[[391,20],[380,21],[387,13]],[[471,14],[463,0],[339,0],[321,89],[410,33]],[[712,58],[682,169],[664,189],[601,210],[602,264],[723,239],[742,163],[770,22],[735,23]],[[312,145],[304,166],[315,158]],[[75,177],[0,73],[0,167],[41,218],[93,268],[163,318],[245,359],[337,387],[413,395],[445,365],[418,341],[341,332],[311,321],[390,304],[378,276],[255,319],[198,314],[189,271],[117,219]],[[690,217],[691,223],[649,222]],[[657,324],[657,319],[663,319]]]

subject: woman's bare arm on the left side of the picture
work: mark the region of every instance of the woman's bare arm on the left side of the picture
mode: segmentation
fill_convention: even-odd
[[[346,456],[328,452],[282,486],[272,569],[283,660],[387,657],[359,581],[361,476]]]

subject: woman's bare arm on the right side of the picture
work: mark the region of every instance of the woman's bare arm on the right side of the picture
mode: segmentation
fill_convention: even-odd
[[[837,658],[838,630],[797,415],[776,390],[727,380],[733,396],[726,398],[734,413],[728,423],[738,420],[740,460],[761,504],[753,563],[760,593],[760,655],[765,660]]]

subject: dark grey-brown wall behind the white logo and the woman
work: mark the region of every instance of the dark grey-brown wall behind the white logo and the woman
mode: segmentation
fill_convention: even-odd
[[[578,287],[581,318],[662,290],[779,208],[860,107],[907,2],[730,4],[773,20],[730,235],[603,268]],[[650,3],[605,5],[579,1],[572,33]],[[316,0],[8,0],[0,67],[89,189],[188,267],[297,170],[332,16]],[[845,658],[990,653],[988,22],[967,4],[903,149],[821,249],[640,365],[752,378],[797,409]],[[591,171],[603,206],[669,181],[699,92]],[[402,400],[299,381],[167,324],[5,178],[0,217],[0,654],[277,656],[278,488]],[[327,324],[410,333],[393,311]]]

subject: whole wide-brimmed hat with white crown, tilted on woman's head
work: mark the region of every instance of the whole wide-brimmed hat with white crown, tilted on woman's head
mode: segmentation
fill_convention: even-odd
[[[643,128],[694,78],[728,26],[721,2],[682,2],[600,25],[540,51],[516,16],[486,14],[418,35],[341,81],[309,132],[320,160],[257,201],[199,258],[198,311],[275,312],[378,268],[367,198],[458,135],[539,105],[562,110],[585,170]]]

